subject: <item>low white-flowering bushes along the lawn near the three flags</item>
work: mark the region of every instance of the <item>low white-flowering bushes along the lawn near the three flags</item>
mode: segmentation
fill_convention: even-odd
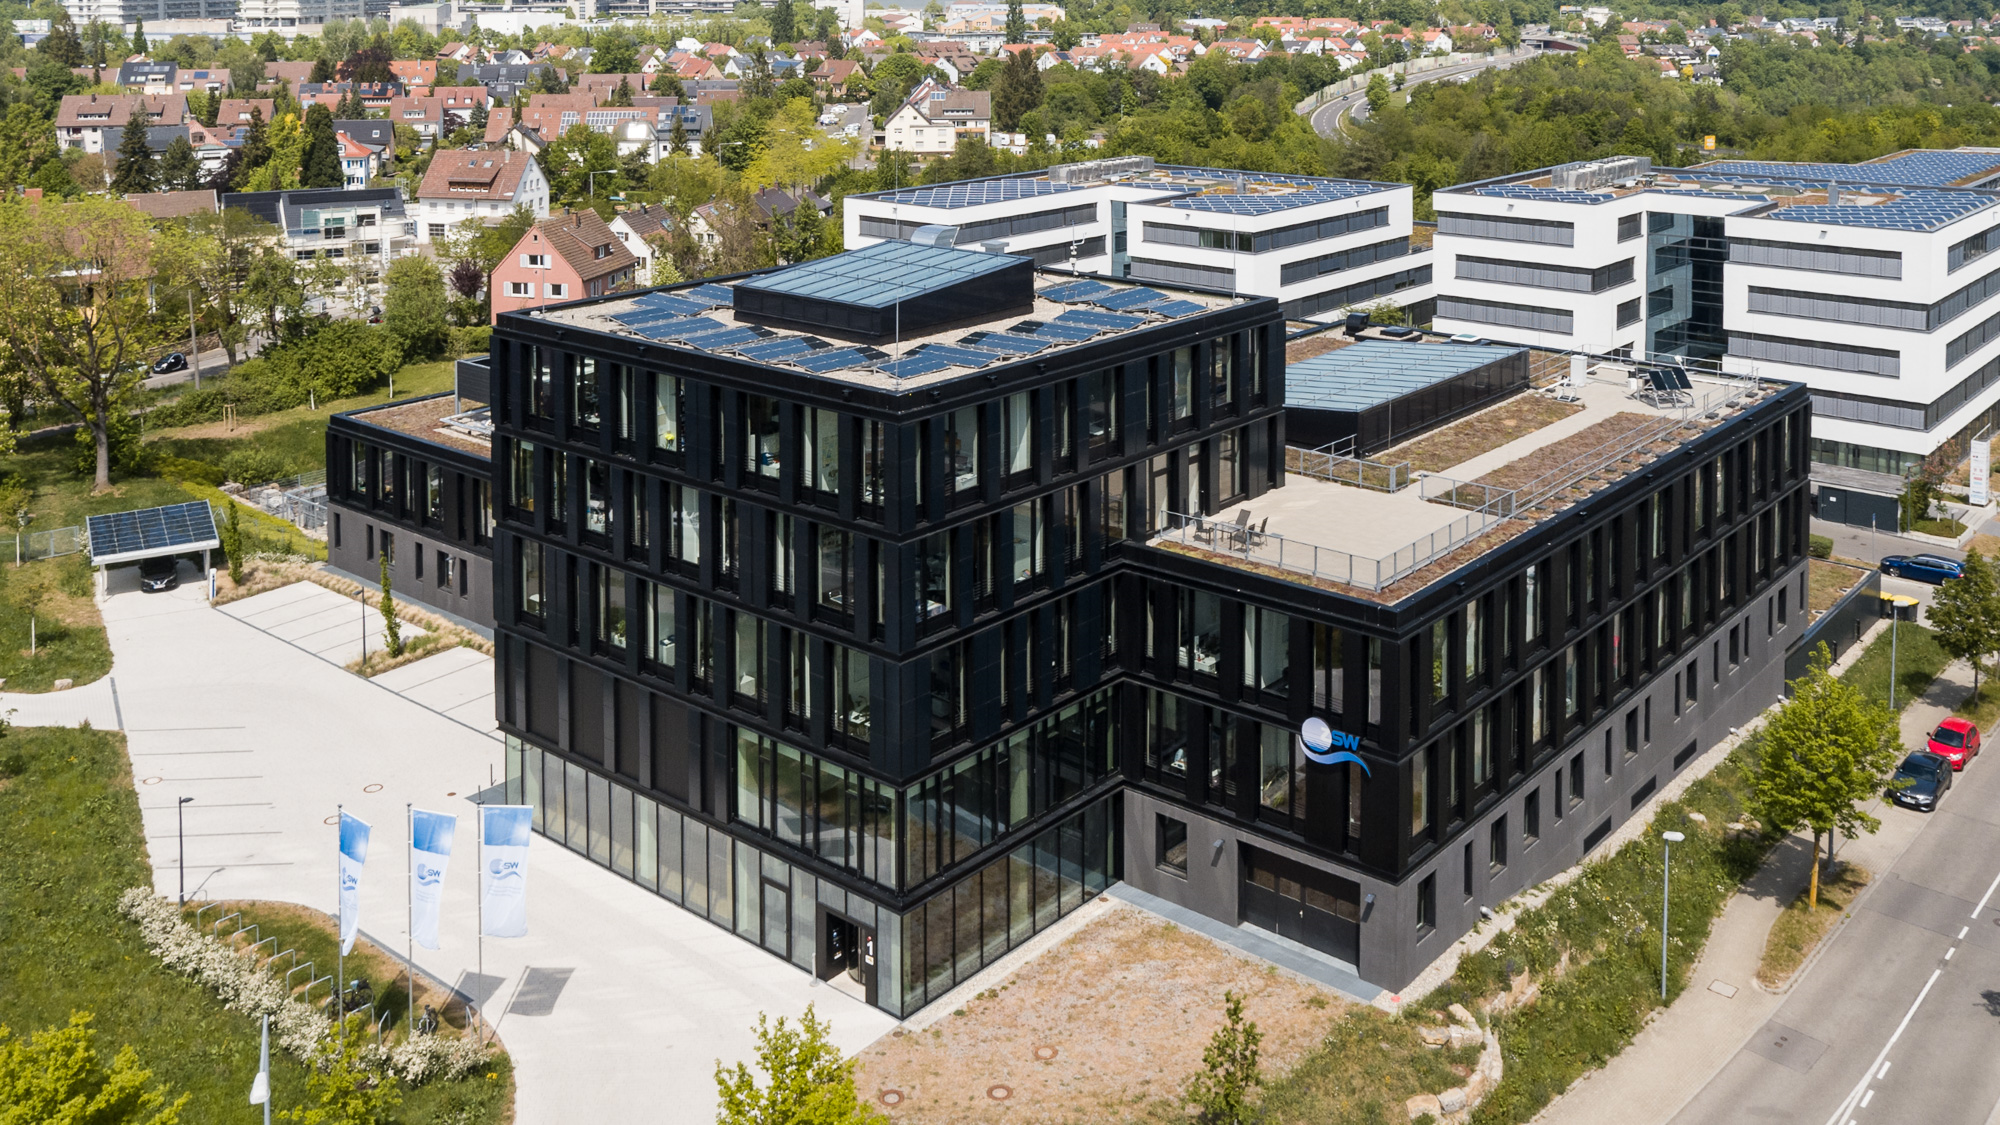
[[[188,925],[180,907],[146,887],[132,887],[120,895],[118,909],[138,923],[146,949],[170,971],[200,981],[222,997],[224,1007],[250,1017],[268,1015],[278,1045],[298,1061],[318,1063],[332,1053],[332,1021],[292,999],[254,957]],[[456,1079],[484,1063],[490,1049],[464,1035],[416,1035],[392,1047],[368,1047],[362,1057],[368,1067],[418,1085]]]

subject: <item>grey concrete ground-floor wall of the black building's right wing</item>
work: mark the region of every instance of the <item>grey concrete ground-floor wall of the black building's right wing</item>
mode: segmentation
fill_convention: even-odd
[[[1124,801],[1124,881],[1140,891],[1168,899],[1192,911],[1226,923],[1238,921],[1240,843],[1298,859],[1318,869],[1334,871],[1360,883],[1362,939],[1360,977],[1396,991],[1408,985],[1424,967],[1436,961],[1454,941],[1480,921],[1480,907],[1498,907],[1506,899],[1562,873],[1584,859],[1584,841],[1604,829],[1616,831],[1634,813],[1634,797],[1644,807],[1652,793],[1664,789],[1702,753],[1778,701],[1784,691],[1786,649],[1806,629],[1804,562],[1744,609],[1724,619],[1698,643],[1682,649],[1670,665],[1662,665],[1636,693],[1620,699],[1594,727],[1568,747],[1554,753],[1514,789],[1498,795],[1470,821],[1430,853],[1402,883],[1368,877],[1304,849],[1284,847],[1278,837],[1246,831],[1220,811],[1196,811],[1168,805],[1142,789],[1126,791]],[[1776,621],[1778,591],[1788,591],[1784,623]],[[1748,643],[1730,665],[1730,629],[1748,633]],[[1718,661],[1720,657],[1720,661]],[[1696,665],[1696,703],[1674,713],[1676,691],[1686,695],[1686,669]],[[1716,665],[1720,663],[1720,679]],[[1678,679],[1676,679],[1678,677]],[[1652,707],[1650,739],[1646,739],[1646,707]],[[1624,751],[1628,713],[1640,715],[1642,739],[1638,753]],[[1610,773],[1604,769],[1604,747],[1610,737]],[[1694,747],[1694,753],[1684,751]],[[1582,757],[1584,789],[1578,799],[1570,791],[1572,761]],[[1676,765],[1674,759],[1680,759]],[[1562,807],[1556,803],[1556,773],[1562,771]],[[1648,789],[1650,785],[1650,789]],[[1540,837],[1522,839],[1524,805],[1538,793]],[[1154,863],[1158,853],[1154,817],[1164,813],[1188,823],[1188,873],[1164,871]],[[1506,817],[1506,867],[1490,867],[1488,847],[1492,823]],[[1600,837],[1602,839],[1602,837]],[[1222,841],[1222,849],[1214,847]],[[1464,855],[1472,847],[1472,895],[1464,891]],[[1418,885],[1436,877],[1438,925],[1416,929]],[[1366,905],[1374,895],[1374,905]]]

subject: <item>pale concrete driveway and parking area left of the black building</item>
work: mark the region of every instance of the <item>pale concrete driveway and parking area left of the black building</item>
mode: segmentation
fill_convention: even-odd
[[[488,1007],[514,1055],[516,1121],[524,1125],[710,1121],[714,1063],[750,1057],[758,1013],[796,1017],[814,1003],[848,1053],[894,1027],[888,1015],[816,987],[810,975],[542,837],[530,847],[528,937],[486,941],[486,977],[472,979],[468,797],[502,769],[490,699],[480,703],[462,683],[472,665],[448,653],[364,681],[274,635],[284,599],[254,601],[226,609],[268,609],[260,617],[272,631],[210,609],[194,587],[140,595],[112,583],[102,603],[116,655],[112,721],[128,735],[160,893],[178,889],[174,809],[194,797],[186,807],[190,895],[332,911],[330,819],[344,805],[374,825],[360,927],[400,951],[404,805],[456,813],[464,831],[444,889],[444,949],[420,951],[416,965],[498,997]],[[310,607],[300,599],[292,609]],[[284,621],[306,629],[310,617]],[[348,625],[360,629],[354,619]],[[400,693],[384,683],[390,677],[402,681]],[[108,689],[74,705],[108,701]],[[424,707],[418,697],[426,693],[454,715],[484,705],[484,725]],[[26,709],[20,719],[30,719]]]

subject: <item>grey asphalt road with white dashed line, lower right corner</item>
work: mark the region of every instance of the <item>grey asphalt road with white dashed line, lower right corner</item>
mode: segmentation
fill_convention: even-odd
[[[1882,815],[1924,823],[1674,1125],[2000,1121],[2000,757]]]

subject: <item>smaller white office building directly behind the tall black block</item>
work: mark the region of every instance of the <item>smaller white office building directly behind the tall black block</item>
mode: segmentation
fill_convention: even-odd
[[[956,228],[952,244],[1174,286],[1276,296],[1288,318],[1382,304],[1430,318],[1410,186],[1120,156],[846,198],[846,246]]]

